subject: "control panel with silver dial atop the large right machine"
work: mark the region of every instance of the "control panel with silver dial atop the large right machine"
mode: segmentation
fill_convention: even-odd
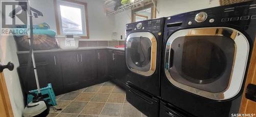
[[[256,1],[240,4],[221,6],[198,11],[178,14],[166,18],[166,27],[190,27],[190,26],[226,26],[236,25],[243,27],[256,21]],[[165,27],[165,28],[166,28]]]

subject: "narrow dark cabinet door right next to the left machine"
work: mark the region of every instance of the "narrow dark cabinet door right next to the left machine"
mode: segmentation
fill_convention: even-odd
[[[124,84],[127,81],[127,67],[125,63],[125,53],[123,51],[114,51],[115,58],[115,79]]]

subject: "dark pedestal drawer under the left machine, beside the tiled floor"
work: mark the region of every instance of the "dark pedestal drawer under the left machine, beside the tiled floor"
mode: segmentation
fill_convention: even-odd
[[[157,117],[159,99],[143,94],[142,92],[126,87],[126,100],[147,116]]]

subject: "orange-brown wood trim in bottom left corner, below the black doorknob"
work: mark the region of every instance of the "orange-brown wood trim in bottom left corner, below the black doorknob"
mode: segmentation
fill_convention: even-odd
[[[1,73],[1,72],[0,72],[0,116],[2,117],[13,116],[4,73]]]

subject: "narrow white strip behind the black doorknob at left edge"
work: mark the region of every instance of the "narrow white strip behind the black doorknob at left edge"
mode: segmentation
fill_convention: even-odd
[[[1,63],[6,65],[8,62],[13,62],[14,64],[13,71],[4,70],[4,76],[15,117],[22,116],[22,111],[24,110],[24,99],[16,70],[19,66],[16,51],[17,48],[13,36],[0,36]]]

